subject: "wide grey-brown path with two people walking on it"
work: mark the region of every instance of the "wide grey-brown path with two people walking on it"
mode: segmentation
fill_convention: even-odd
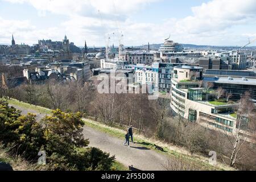
[[[14,105],[12,105],[14,106]],[[41,119],[45,114],[40,114],[38,111],[26,109],[19,106],[14,106],[22,111],[22,114],[35,113],[37,119]],[[123,146],[124,140],[110,136],[109,134],[95,130],[92,127],[85,126],[83,134],[85,138],[89,138],[89,146],[98,147],[102,151],[109,152],[110,155],[115,155],[118,162],[141,170],[163,170],[163,164],[166,162],[166,156],[159,154],[154,150],[139,146],[135,143],[130,143],[131,147]],[[136,137],[136,136],[135,136]]]

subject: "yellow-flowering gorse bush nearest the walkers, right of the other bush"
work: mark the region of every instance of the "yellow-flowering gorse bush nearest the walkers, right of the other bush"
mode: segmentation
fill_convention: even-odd
[[[55,169],[63,170],[75,167],[79,170],[102,169],[109,170],[114,156],[102,152],[97,148],[84,148],[89,140],[84,139],[81,114],[63,113],[57,109],[51,116],[43,119],[44,137],[48,160]]]

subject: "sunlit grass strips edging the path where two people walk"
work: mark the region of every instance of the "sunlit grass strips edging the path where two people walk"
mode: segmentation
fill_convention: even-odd
[[[8,101],[10,104],[17,105],[20,107],[26,107],[32,110],[39,111],[40,113],[51,113],[50,109],[30,105],[24,102],[19,102],[17,100],[10,100]],[[96,129],[98,131],[107,133],[113,137],[123,139],[124,135],[126,133],[125,127],[119,127],[119,125],[113,124],[112,126],[104,125],[104,123],[93,121],[92,119],[83,119],[86,126],[92,127],[93,129]],[[136,142],[139,146],[150,148],[151,150],[155,150],[156,152],[159,152],[160,154],[167,155],[167,156],[175,156],[176,158],[184,157],[186,160],[192,160],[195,162],[200,163],[201,167],[203,167],[205,170],[234,170],[234,168],[230,168],[228,166],[225,166],[224,164],[218,163],[217,166],[212,166],[208,163],[208,158],[201,156],[201,155],[189,155],[188,151],[185,151],[181,147],[173,146],[171,144],[160,142],[159,140],[155,139],[148,139],[144,137],[143,135],[139,135],[135,133],[134,142]],[[154,144],[157,144],[160,147],[163,147],[164,152],[156,150],[154,147]],[[119,162],[115,162],[113,164],[113,169],[116,170],[127,170],[123,164]]]

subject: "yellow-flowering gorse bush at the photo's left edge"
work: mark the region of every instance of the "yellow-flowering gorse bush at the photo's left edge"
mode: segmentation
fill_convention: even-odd
[[[13,154],[23,155],[26,159],[37,158],[44,143],[43,130],[35,115],[21,115],[19,110],[0,101],[0,140],[7,146],[13,145]]]

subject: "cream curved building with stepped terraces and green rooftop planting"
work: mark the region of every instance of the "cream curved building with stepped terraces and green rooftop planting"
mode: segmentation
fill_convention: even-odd
[[[236,102],[216,104],[216,92],[200,87],[203,68],[178,66],[174,68],[171,90],[171,109],[174,114],[197,122],[208,129],[236,133]],[[243,132],[243,131],[242,131]],[[246,132],[246,131],[244,131]]]

